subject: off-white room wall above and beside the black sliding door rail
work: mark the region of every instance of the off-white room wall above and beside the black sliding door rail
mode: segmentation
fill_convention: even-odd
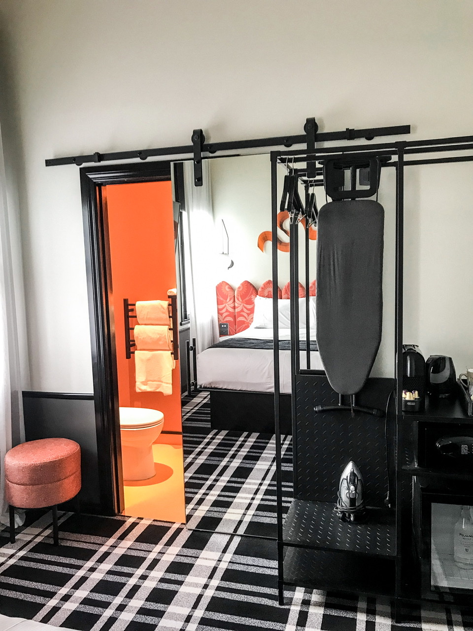
[[[326,131],[469,134],[472,27],[469,0],[0,0],[32,389],[92,389],[78,170],[45,158],[187,144],[195,127],[214,141],[302,133],[309,115]],[[470,187],[471,168],[452,178]],[[436,169],[409,184],[406,340],[460,369],[472,292],[454,276],[471,267],[473,191]]]

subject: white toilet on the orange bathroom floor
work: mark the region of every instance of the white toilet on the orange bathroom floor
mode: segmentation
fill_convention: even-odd
[[[164,424],[164,415],[148,408],[119,408],[124,480],[148,480],[155,475],[153,442]]]

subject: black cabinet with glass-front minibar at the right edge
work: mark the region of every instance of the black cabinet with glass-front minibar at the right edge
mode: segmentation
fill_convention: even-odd
[[[412,478],[411,553],[419,598],[471,607],[473,418],[460,398],[431,399],[424,412],[404,414],[402,434],[401,475]]]

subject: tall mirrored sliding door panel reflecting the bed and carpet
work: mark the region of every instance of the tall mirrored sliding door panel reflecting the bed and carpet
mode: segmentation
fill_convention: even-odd
[[[193,529],[276,538],[274,375],[272,322],[268,322],[272,314],[272,259],[271,240],[261,238],[271,231],[270,160],[265,154],[206,162],[214,244],[211,235],[207,235],[199,251],[214,247],[217,256],[214,268],[209,270],[211,289],[208,278],[201,283],[194,276],[188,293],[201,295],[202,287],[204,292],[213,292],[208,302],[214,305],[214,315],[226,329],[222,329],[225,334],[220,339],[232,344],[240,340],[241,346],[207,348],[197,354],[199,392],[184,398],[182,408],[186,521],[188,528]],[[279,179],[282,187],[283,170]],[[187,214],[192,213],[187,200],[185,205]],[[284,221],[279,230],[281,244],[288,244],[288,223]],[[225,244],[223,225],[228,235]],[[311,280],[315,280],[315,247],[314,239],[310,242]],[[191,249],[192,256],[199,256],[192,238]],[[230,267],[229,261],[233,261]],[[279,295],[282,300],[285,289],[284,303],[288,309],[289,254],[284,245],[278,252],[278,265]],[[304,273],[301,263],[301,276]],[[312,290],[315,293],[315,283]],[[252,326],[254,315],[266,317],[268,326],[257,328],[257,322]],[[281,337],[288,340],[288,319],[284,329]],[[247,348],[248,339],[252,348]],[[218,341],[216,333],[214,342]],[[292,496],[290,351],[281,352],[286,366],[286,423],[282,440],[289,505]],[[255,425],[253,419],[258,409],[260,423]]]

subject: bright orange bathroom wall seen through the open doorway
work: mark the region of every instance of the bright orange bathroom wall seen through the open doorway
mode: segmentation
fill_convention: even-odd
[[[179,363],[172,394],[136,392],[134,355],[126,358],[123,299],[166,300],[176,286],[171,182],[114,184],[103,194],[107,203],[112,303],[115,319],[119,404],[153,408],[164,414],[163,430],[180,432]],[[136,324],[136,320],[132,320]],[[132,331],[131,331],[132,336]]]

